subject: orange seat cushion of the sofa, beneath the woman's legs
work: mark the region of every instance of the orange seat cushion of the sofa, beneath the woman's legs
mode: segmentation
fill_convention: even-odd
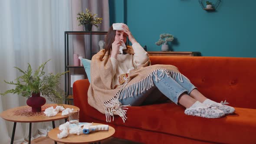
[[[88,106],[90,117],[105,121],[96,109]],[[174,103],[129,107],[127,121],[119,116],[111,123],[147,131],[219,143],[253,143],[256,141],[256,109],[236,108],[236,114],[223,118],[200,118],[184,114],[185,108]]]

